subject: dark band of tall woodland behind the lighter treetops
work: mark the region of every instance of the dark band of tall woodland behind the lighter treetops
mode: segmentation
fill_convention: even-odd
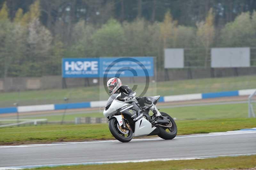
[[[29,11],[29,6],[36,0],[0,0],[9,8],[10,19],[22,9]],[[104,24],[108,19],[133,21],[144,18],[148,21],[163,21],[168,10],[180,25],[195,26],[205,18],[212,8],[215,13],[215,26],[222,27],[233,21],[242,12],[253,12],[255,0],[41,0],[40,21],[51,31],[56,22],[76,23],[80,19],[93,24]],[[68,28],[67,28],[68,29]]]

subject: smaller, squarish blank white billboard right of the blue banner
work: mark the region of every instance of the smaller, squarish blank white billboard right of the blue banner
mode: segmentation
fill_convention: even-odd
[[[184,68],[184,49],[164,49],[164,68]]]

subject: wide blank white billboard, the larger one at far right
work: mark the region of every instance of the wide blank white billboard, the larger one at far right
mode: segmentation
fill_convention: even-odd
[[[211,66],[250,67],[250,48],[212,48]]]

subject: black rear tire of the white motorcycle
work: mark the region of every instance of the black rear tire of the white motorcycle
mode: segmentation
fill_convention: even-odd
[[[178,131],[175,121],[167,113],[161,112],[161,115],[167,116],[171,120],[172,127],[171,128],[165,128],[165,127],[159,126],[158,127],[158,129],[159,129],[158,136],[161,137],[162,139],[166,139],[166,140],[175,138],[175,136],[177,135],[177,131]],[[167,132],[166,130],[169,130],[170,132]]]

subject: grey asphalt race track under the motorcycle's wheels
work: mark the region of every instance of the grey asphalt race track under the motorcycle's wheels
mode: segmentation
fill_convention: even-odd
[[[0,146],[0,167],[256,153],[256,128],[119,141]]]

